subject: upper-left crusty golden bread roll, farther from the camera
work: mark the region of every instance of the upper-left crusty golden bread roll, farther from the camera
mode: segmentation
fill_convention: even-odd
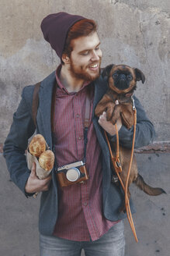
[[[41,134],[36,134],[29,144],[29,152],[31,155],[40,157],[41,153],[46,150],[46,140]]]

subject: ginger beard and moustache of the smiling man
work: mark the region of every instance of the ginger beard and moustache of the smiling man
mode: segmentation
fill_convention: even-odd
[[[99,65],[99,69],[94,71],[93,74],[90,74],[88,71],[88,67],[90,65],[96,64],[96,62],[92,62],[88,66],[75,66],[74,62],[70,62],[70,72],[71,76],[74,76],[76,79],[81,79],[85,81],[94,81],[100,76],[100,65],[101,65],[101,58],[99,59],[99,62],[97,64]],[[92,72],[92,71],[91,71]]]

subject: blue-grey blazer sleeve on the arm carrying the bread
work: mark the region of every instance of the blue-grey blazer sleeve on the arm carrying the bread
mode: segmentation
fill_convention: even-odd
[[[33,86],[23,89],[19,107],[13,115],[12,126],[5,140],[3,155],[11,180],[25,193],[26,181],[30,171],[26,164],[25,151],[28,139],[36,130],[32,119]],[[26,194],[26,196],[29,194]]]

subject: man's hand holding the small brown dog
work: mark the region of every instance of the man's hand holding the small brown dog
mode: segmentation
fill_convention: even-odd
[[[116,134],[115,126],[111,122],[107,121],[107,119],[106,119],[106,112],[102,112],[102,115],[99,116],[98,123],[111,136]],[[117,125],[117,130],[119,131],[120,128],[122,127],[122,120],[121,120],[121,118],[119,118],[117,120],[116,125]]]

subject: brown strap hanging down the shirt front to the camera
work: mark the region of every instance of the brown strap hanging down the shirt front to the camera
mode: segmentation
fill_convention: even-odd
[[[88,126],[90,124],[90,98],[89,95],[86,94],[86,101],[85,101],[85,130],[84,130],[84,142],[85,142],[85,151],[84,151],[84,159],[85,162],[86,158],[86,148],[88,144]]]

